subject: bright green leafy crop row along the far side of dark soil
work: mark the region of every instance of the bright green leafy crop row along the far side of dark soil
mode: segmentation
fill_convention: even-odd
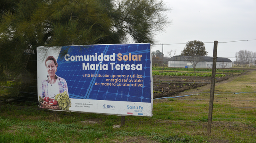
[[[212,74],[205,73],[187,73],[187,72],[158,72],[153,71],[152,75],[161,75],[161,76],[203,76],[203,77],[211,77]],[[216,74],[216,77],[224,77],[226,74]]]

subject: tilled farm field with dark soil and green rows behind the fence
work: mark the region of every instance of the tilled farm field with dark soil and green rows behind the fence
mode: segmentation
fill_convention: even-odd
[[[153,70],[155,70],[153,71],[154,98],[171,97],[186,90],[211,84],[211,69],[197,69],[196,72],[193,72],[192,69],[189,69],[190,71],[186,71],[183,68],[173,68],[175,71],[166,69],[164,71],[160,71],[160,68],[153,68]],[[238,76],[244,73],[244,71],[246,71],[246,69],[217,69],[215,82],[221,82],[233,76]],[[157,75],[159,73],[162,73],[162,75]],[[172,76],[168,76],[168,73],[173,74],[171,74]],[[179,73],[181,76],[175,75]],[[187,74],[187,76],[183,76],[182,74]]]

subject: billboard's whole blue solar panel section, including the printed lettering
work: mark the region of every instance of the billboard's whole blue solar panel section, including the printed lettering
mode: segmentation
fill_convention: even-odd
[[[150,44],[63,46],[56,74],[73,99],[151,103],[150,56]]]

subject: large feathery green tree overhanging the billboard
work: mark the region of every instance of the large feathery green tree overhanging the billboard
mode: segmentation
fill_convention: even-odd
[[[134,42],[154,43],[156,31],[169,24],[164,14],[168,10],[157,0],[2,0],[0,82],[12,75],[16,83],[26,77],[37,85],[36,72],[31,71],[36,71],[38,46],[57,50],[59,46],[118,44],[129,36]]]

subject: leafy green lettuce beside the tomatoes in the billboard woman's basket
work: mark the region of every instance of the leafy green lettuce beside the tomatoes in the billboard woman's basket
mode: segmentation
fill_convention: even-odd
[[[61,110],[69,110],[69,107],[71,107],[71,100],[69,99],[69,96],[67,95],[67,91],[64,93],[59,93],[56,95],[55,100],[58,101],[59,109]]]

